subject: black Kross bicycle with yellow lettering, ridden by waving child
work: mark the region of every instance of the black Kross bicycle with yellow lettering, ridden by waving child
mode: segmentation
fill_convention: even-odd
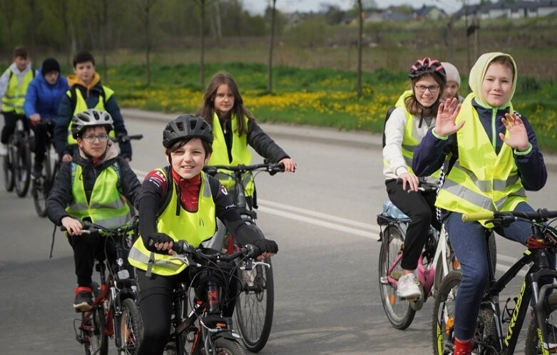
[[[512,222],[523,221],[531,224],[532,236],[526,244],[523,257],[511,266],[499,279],[494,277],[491,267],[491,251],[486,250],[489,264],[489,284],[481,301],[476,331],[472,340],[474,354],[513,354],[518,336],[526,318],[529,301],[533,299],[533,314],[526,336],[525,354],[550,354],[557,350],[557,334],[553,333],[551,313],[557,309],[556,295],[551,289],[556,284],[539,286],[542,277],[557,279],[555,264],[550,262],[548,254],[555,254],[557,248],[557,228],[551,227],[550,219],[557,217],[557,211],[538,209],[536,212],[488,212],[464,214],[464,221],[489,220],[494,225],[507,226]],[[489,235],[489,232],[486,232]],[[503,312],[499,306],[499,294],[515,279],[522,267],[530,264],[523,279],[518,296],[506,300]],[[459,292],[462,279],[460,271],[450,272],[443,280],[434,304],[432,336],[434,354],[452,354],[454,337],[454,300]],[[504,333],[503,325],[509,323]],[[551,338],[548,336],[551,334]],[[552,340],[553,343],[548,343]],[[540,351],[538,353],[538,351]]]

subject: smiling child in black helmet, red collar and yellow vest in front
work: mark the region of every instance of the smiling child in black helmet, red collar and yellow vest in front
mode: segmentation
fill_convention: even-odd
[[[272,257],[278,251],[274,241],[260,239],[242,222],[220,182],[203,173],[212,144],[211,126],[203,118],[181,115],[170,121],[163,131],[170,165],[148,173],[141,186],[140,238],[129,256],[130,264],[138,269],[139,307],[145,329],[138,355],[163,354],[170,334],[173,288],[176,282],[189,283],[194,276],[195,269],[165,263],[173,254],[173,242],[185,240],[198,247],[213,237],[218,217],[242,245],[260,248],[259,258]],[[237,294],[236,288],[231,281],[230,294]],[[234,297],[230,297],[225,317],[232,316],[234,304]]]

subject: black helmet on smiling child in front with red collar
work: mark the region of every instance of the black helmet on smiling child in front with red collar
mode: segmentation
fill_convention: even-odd
[[[178,140],[201,138],[213,145],[213,129],[206,120],[194,115],[180,115],[163,130],[163,146],[169,148]]]

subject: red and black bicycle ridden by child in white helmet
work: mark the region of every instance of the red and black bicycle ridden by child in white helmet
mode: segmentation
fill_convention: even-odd
[[[91,288],[94,299],[91,309],[81,312],[81,319],[75,319],[73,323],[76,340],[83,344],[86,355],[107,355],[109,336],[114,337],[118,354],[136,354],[142,339],[143,321],[136,304],[137,281],[123,267],[127,258],[125,251],[132,245],[130,232],[136,232],[137,223],[138,218],[133,217],[128,224],[111,229],[88,221],[82,222],[83,233],[101,232],[106,238],[104,252],[96,256],[95,265],[101,284],[99,286],[93,282]],[[61,227],[61,230],[65,228]],[[105,262],[108,240],[112,240],[116,246],[114,265]]]

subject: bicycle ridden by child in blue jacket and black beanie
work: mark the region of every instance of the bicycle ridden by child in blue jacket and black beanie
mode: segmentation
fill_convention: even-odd
[[[31,196],[33,197],[35,211],[39,217],[46,216],[46,199],[53,185],[54,178],[58,170],[60,170],[61,164],[52,143],[51,130],[48,128],[48,126],[54,124],[53,120],[41,120],[39,123],[39,125],[45,126],[46,150],[41,175],[34,176],[31,185]]]

